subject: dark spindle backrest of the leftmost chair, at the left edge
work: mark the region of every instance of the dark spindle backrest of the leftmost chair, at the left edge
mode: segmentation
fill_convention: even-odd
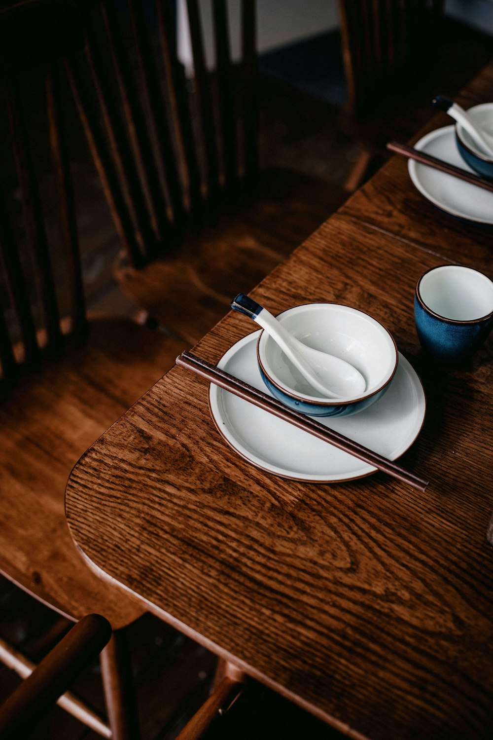
[[[57,68],[57,58],[81,42],[70,2],[30,0],[0,11],[0,124],[6,129],[0,184],[1,378],[15,375],[41,350],[58,347],[62,334],[85,326]],[[45,98],[44,110],[37,102],[34,111],[27,110],[39,97]],[[44,180],[43,142],[51,152],[50,178]],[[8,171],[10,153],[15,175]],[[55,213],[47,219],[49,192]],[[52,238],[58,242],[55,258]]]

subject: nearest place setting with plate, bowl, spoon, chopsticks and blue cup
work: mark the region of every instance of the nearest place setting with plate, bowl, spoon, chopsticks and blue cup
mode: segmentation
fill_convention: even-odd
[[[239,294],[231,308],[262,329],[231,346],[217,366],[188,351],[177,357],[211,383],[211,417],[225,443],[293,480],[342,482],[381,470],[424,491],[426,480],[393,462],[421,431],[424,388],[381,323],[337,303],[273,317]],[[458,365],[492,329],[493,283],[469,267],[435,267],[418,280],[414,312],[429,360]]]

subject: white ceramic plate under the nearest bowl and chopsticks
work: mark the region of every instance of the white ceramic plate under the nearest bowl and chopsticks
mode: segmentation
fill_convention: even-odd
[[[248,334],[234,344],[217,366],[268,392],[256,364],[259,334]],[[257,468],[285,478],[317,482],[353,480],[375,472],[366,462],[213,383],[209,388],[209,406],[225,441]],[[381,400],[354,416],[320,418],[319,421],[389,460],[395,460],[418,437],[425,406],[421,381],[406,358],[399,354],[395,377]]]

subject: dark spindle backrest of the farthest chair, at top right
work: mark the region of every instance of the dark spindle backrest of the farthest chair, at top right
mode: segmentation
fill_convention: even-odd
[[[369,112],[390,86],[422,72],[443,0],[339,0],[347,112]]]

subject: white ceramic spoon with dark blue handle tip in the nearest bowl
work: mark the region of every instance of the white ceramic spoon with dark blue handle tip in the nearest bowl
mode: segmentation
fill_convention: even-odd
[[[266,309],[240,293],[231,308],[246,314],[270,334],[303,377],[327,398],[354,398],[363,393],[367,384],[361,373],[350,363],[333,354],[307,347],[290,334]]]

